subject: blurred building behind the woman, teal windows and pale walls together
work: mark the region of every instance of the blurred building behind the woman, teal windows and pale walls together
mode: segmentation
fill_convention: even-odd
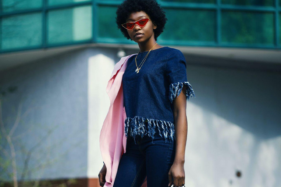
[[[97,187],[119,0],[0,1],[0,186]],[[179,49],[186,187],[281,184],[281,0],[157,0]]]

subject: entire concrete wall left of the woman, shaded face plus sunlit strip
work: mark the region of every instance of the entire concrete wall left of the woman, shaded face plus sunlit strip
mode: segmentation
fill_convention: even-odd
[[[17,86],[3,97],[5,128],[12,128],[20,99],[22,113],[29,111],[15,131],[18,179],[27,157],[21,146],[28,151],[40,140],[25,179],[98,177],[103,165],[99,135],[110,105],[106,85],[117,61],[115,51],[88,48],[0,73],[0,90]],[[7,141],[0,144],[10,151]]]

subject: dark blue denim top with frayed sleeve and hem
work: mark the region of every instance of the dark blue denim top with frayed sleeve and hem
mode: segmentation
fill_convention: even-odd
[[[187,82],[186,61],[182,52],[168,46],[140,52],[128,59],[122,77],[126,111],[125,135],[135,137],[159,133],[161,137],[175,139],[173,101],[185,87],[186,99],[195,97]],[[136,58],[137,56],[137,58]],[[135,61],[136,58],[136,61]],[[136,62],[141,66],[136,72]]]

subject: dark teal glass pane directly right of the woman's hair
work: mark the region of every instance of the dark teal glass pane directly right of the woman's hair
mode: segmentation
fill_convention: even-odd
[[[161,40],[215,41],[215,11],[165,9],[167,23]]]

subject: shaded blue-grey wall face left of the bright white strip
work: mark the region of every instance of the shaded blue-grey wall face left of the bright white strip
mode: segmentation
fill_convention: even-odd
[[[21,118],[12,137],[18,179],[30,150],[25,179],[86,177],[88,58],[85,54],[81,50],[58,55],[0,73],[3,90],[17,86],[16,91],[3,97],[3,119],[8,131],[16,122],[22,101]],[[10,152],[6,142],[2,139],[0,143]]]

